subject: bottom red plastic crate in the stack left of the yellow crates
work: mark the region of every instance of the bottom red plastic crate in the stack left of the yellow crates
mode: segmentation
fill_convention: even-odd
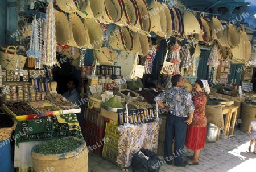
[[[88,135],[88,134],[83,134],[83,135],[84,135],[84,140],[86,142],[86,146],[90,147],[88,148],[89,151],[92,151],[96,154],[101,154],[103,150],[104,141],[96,139],[92,135]]]

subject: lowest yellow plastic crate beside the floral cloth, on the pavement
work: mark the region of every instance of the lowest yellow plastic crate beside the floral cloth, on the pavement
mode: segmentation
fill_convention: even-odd
[[[109,145],[104,145],[103,146],[103,152],[102,152],[102,158],[104,160],[108,160],[110,162],[112,162],[113,164],[117,165],[118,167],[120,167],[121,169],[125,169],[126,167],[118,164],[117,161],[117,154],[118,154],[118,149],[114,149],[112,147],[110,147]]]

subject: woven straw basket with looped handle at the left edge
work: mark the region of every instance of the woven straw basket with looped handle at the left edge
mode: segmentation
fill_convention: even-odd
[[[15,52],[13,54],[10,54],[11,52]],[[8,46],[5,50],[5,52],[0,51],[0,65],[2,66],[2,69],[11,70],[13,71],[16,67],[16,63],[18,61],[18,57],[20,56],[21,59],[21,67],[23,68],[26,63],[26,57],[23,55],[16,54],[18,51],[16,50],[15,46]],[[19,64],[18,64],[19,67]]]

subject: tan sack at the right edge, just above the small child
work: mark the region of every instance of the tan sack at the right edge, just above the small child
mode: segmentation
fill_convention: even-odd
[[[256,120],[256,103],[253,105],[242,102],[240,119],[240,130],[247,132],[250,122]]]

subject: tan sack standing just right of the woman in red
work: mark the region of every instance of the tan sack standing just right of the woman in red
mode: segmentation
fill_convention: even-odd
[[[205,106],[205,117],[208,123],[212,123],[220,128],[224,127],[222,106],[220,103]]]

